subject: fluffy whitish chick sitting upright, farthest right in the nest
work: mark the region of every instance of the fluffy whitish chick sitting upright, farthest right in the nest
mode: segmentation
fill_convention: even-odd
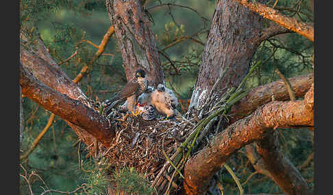
[[[151,93],[151,104],[158,112],[167,115],[167,119],[178,114],[176,109],[178,100],[175,93],[162,84],[159,84],[157,89]]]

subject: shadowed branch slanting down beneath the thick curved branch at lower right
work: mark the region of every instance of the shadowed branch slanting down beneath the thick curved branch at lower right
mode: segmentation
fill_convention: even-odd
[[[275,183],[286,194],[312,194],[297,168],[281,151],[277,132],[268,134],[264,139],[259,140],[257,142],[257,151]]]

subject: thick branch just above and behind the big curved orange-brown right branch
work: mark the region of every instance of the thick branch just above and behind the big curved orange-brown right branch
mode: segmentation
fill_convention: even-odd
[[[288,78],[289,83],[295,93],[295,97],[303,97],[313,83],[313,74],[306,74]],[[262,85],[251,89],[249,94],[242,100],[232,106],[231,114],[239,114],[231,119],[231,122],[242,119],[245,115],[249,115],[256,110],[258,106],[271,102],[271,97],[275,100],[284,101],[289,99],[288,89],[282,80],[271,82],[267,85]]]

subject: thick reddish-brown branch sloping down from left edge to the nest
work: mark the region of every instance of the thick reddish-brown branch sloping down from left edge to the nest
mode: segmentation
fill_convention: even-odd
[[[41,104],[45,109],[60,116],[62,119],[82,127],[106,147],[110,146],[110,139],[114,136],[114,129],[106,117],[99,115],[79,100],[73,100],[69,96],[47,87],[39,82],[20,63],[20,85],[22,93],[31,100]]]

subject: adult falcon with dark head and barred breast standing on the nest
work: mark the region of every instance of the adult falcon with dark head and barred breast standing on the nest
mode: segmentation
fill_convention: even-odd
[[[139,95],[141,95],[144,91],[146,91],[148,87],[148,80],[146,77],[146,72],[144,70],[136,70],[135,77],[126,83],[126,85],[116,93],[114,97],[108,102],[108,108],[106,110],[106,115],[109,115],[111,109],[117,104],[123,102],[127,99],[127,110],[134,114],[135,112],[135,104],[136,99]],[[134,114],[137,115],[137,114]]]

